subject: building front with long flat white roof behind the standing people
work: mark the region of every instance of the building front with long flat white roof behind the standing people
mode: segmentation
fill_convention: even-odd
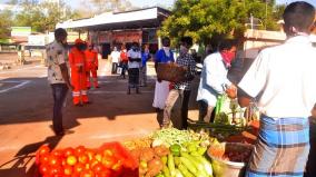
[[[88,33],[87,40],[98,47],[102,58],[107,58],[113,47],[129,49],[132,42],[139,42],[141,47],[148,45],[154,53],[159,48],[157,30],[169,14],[170,11],[162,8],[106,12],[90,19],[68,20],[58,23],[57,28]]]

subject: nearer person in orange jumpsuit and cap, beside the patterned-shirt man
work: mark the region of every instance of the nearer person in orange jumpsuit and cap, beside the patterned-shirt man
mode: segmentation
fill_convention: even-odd
[[[89,104],[86,76],[86,55],[87,43],[81,39],[76,39],[75,47],[69,52],[69,63],[71,68],[72,101],[75,106]]]

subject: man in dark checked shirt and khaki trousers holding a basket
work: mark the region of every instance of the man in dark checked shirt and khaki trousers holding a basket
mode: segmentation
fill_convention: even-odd
[[[176,127],[179,129],[187,129],[187,118],[188,118],[188,105],[191,92],[191,80],[195,76],[196,62],[190,53],[188,53],[190,47],[192,46],[192,38],[182,37],[180,40],[180,55],[176,60],[176,63],[180,67],[187,68],[186,79],[180,82],[174,83],[174,88],[170,90],[168,98],[166,100],[166,107],[164,111],[162,128],[170,126],[170,115],[177,99],[181,98],[181,120],[180,126]]]

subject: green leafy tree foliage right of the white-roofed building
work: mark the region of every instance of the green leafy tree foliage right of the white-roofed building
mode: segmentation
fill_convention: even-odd
[[[250,14],[260,19],[260,29],[277,29],[275,1],[261,0],[177,0],[172,14],[164,21],[160,36],[190,36],[198,43],[241,37]]]

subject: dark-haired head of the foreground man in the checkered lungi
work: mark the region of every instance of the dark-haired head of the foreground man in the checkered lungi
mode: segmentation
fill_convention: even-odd
[[[287,36],[296,36],[299,32],[309,33],[314,24],[315,8],[304,1],[293,2],[285,8],[283,19]]]

